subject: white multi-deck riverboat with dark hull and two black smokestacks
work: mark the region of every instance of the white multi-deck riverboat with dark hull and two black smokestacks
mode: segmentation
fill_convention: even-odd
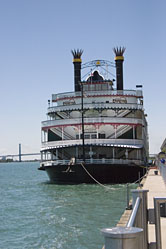
[[[116,48],[116,88],[100,74],[81,81],[82,50],[74,50],[75,91],[53,94],[42,122],[40,169],[55,183],[125,183],[143,174],[148,156],[142,90],[123,89],[124,48]]]

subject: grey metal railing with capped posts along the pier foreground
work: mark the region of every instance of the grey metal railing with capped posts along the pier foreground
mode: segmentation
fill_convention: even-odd
[[[105,239],[104,249],[149,249],[148,242],[148,190],[132,190],[132,213],[125,227],[102,229]],[[156,233],[155,249],[162,249],[160,204],[166,203],[166,197],[154,197],[154,224]],[[153,247],[154,248],[154,247]],[[163,248],[164,249],[164,248]]]

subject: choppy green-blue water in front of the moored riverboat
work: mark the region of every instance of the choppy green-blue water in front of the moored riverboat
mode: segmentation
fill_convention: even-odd
[[[38,167],[0,164],[0,249],[101,249],[100,229],[118,222],[126,186],[53,185]]]

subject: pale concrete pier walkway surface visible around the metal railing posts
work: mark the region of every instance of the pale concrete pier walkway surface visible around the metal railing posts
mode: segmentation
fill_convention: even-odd
[[[163,170],[163,169],[162,169]],[[166,165],[164,165],[164,171],[166,172]],[[147,213],[148,213],[148,249],[165,249],[166,248],[166,206],[163,206],[163,211],[160,208],[161,216],[163,217],[156,217],[154,212],[154,198],[162,199],[166,198],[166,184],[164,183],[163,177],[160,174],[160,171],[157,168],[151,168],[147,176],[141,182],[141,189],[147,190]],[[138,188],[140,189],[140,188]],[[165,201],[164,201],[165,202]],[[122,215],[117,227],[126,227],[127,222],[131,216],[132,210],[125,210],[124,214]],[[156,218],[160,220],[160,227],[161,227],[161,242],[156,244],[158,235],[156,234]],[[142,248],[140,248],[142,249]]]

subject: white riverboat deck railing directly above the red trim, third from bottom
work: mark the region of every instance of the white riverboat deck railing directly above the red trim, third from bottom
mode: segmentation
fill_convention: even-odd
[[[61,120],[47,120],[42,122],[42,127],[49,127],[49,126],[60,126],[60,125],[78,125],[82,123],[81,118],[73,118],[73,119],[61,119]],[[117,117],[98,117],[98,118],[84,118],[84,124],[86,123],[95,124],[95,123],[110,123],[110,124],[140,124],[143,125],[143,120],[139,118],[117,118]]]

